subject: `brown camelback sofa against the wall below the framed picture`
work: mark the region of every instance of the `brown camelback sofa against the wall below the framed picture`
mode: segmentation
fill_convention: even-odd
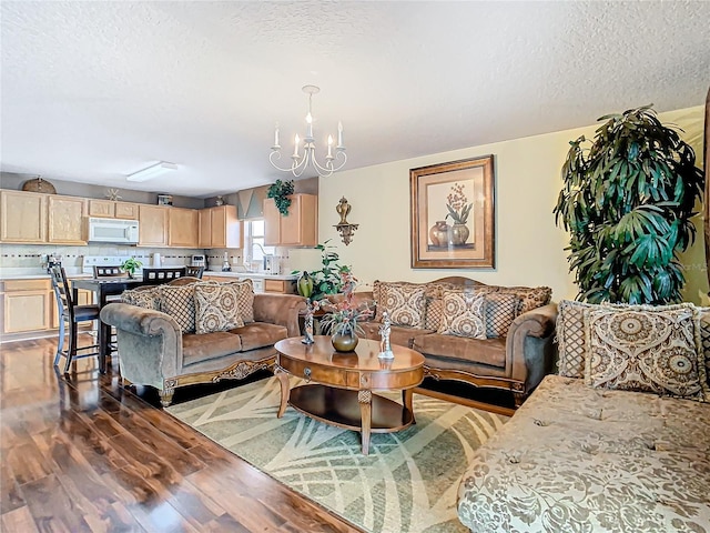
[[[366,336],[379,339],[383,311],[420,300],[422,291],[422,320],[417,322],[416,316],[399,314],[400,323],[393,321],[390,341],[413,348],[425,356],[425,378],[508,390],[518,406],[545,374],[552,371],[557,305],[549,303],[549,288],[499,288],[460,276],[429,283],[376,281],[372,292],[357,293],[358,300],[373,299],[376,303],[375,320],[361,324]],[[488,324],[485,334],[479,332],[477,335],[483,339],[440,332],[444,295],[448,298],[454,292],[485,293],[483,309]],[[508,294],[517,298],[518,308],[503,313],[507,319],[500,323],[498,312],[511,303],[516,305],[516,298],[508,298]],[[415,323],[408,325],[412,320]]]

